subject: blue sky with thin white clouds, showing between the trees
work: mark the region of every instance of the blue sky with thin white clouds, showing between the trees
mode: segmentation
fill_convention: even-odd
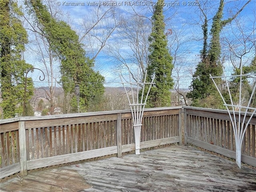
[[[229,0],[225,1],[227,4],[224,9],[224,18],[227,18],[229,15],[234,14],[241,8],[246,1],[244,0]],[[107,9],[110,4],[114,4],[118,7],[118,16],[122,16],[124,19],[129,18],[131,15],[143,15],[145,18],[151,18],[152,16],[152,5],[156,1],[139,1],[139,0],[114,0],[111,2],[108,1],[98,1],[98,0],[54,0],[52,1],[51,6],[55,9],[59,9],[63,13],[63,19],[67,21],[74,30],[81,37],[84,34],[83,23],[92,24],[95,19],[95,9],[97,6],[104,6],[104,9]],[[206,1],[187,1],[187,0],[165,0],[164,1],[164,16],[166,20],[166,30],[171,29],[172,35],[168,36],[169,48],[172,56],[175,56],[174,70],[172,72],[174,81],[179,80],[177,86],[179,88],[188,88],[192,80],[192,74],[196,68],[196,64],[200,60],[199,54],[202,49],[202,13],[198,8],[198,4],[202,8],[206,6]],[[216,12],[219,1],[212,0],[207,6],[211,6],[211,9],[207,9],[206,13],[208,15],[208,24],[209,28],[212,24],[212,16]],[[149,7],[149,8],[148,8]],[[252,0],[240,13],[238,20],[229,24],[226,28],[223,29],[222,38],[227,37],[229,39],[242,39],[241,32],[239,32],[239,25],[244,31],[248,31],[250,38],[255,41],[256,37],[254,34],[251,34],[255,29],[255,11],[256,11],[256,1]],[[118,17],[117,16],[117,17]],[[244,21],[242,24],[240,21]],[[90,58],[94,56],[95,50],[99,45],[97,37],[100,37],[101,33],[104,33],[104,24],[111,24],[111,18],[106,19],[105,23],[101,26],[98,26],[97,30],[94,30],[96,38],[93,39],[85,38],[83,44],[85,45],[85,50]],[[124,42],[123,37],[118,34],[119,28],[113,32],[111,37],[106,42],[106,46],[95,58],[95,70],[99,70],[100,73],[105,77],[106,83],[105,86],[122,86],[120,84],[120,78],[118,71],[115,67],[117,61],[109,54],[111,44],[114,46],[114,42],[119,40]],[[234,31],[237,32],[234,32]],[[235,35],[233,34],[235,33]],[[174,35],[175,34],[175,35]],[[241,50],[243,50],[241,42]],[[225,45],[223,45],[225,49]],[[132,53],[132,50],[129,46],[122,44],[120,46],[120,53],[124,56]],[[254,51],[253,51],[254,50]],[[176,52],[174,52],[176,51]],[[227,50],[228,51],[228,50]],[[30,52],[31,53],[31,52]],[[42,68],[39,60],[36,60],[36,54],[28,54],[26,60],[34,64],[35,67]],[[255,55],[255,47],[252,47],[249,54],[244,56],[243,62],[250,61],[250,58]],[[58,63],[56,64],[58,65]],[[131,66],[132,62],[130,63]],[[232,68],[231,62],[225,60],[226,68]],[[231,69],[229,69],[231,70]],[[56,72],[58,67],[56,67]],[[32,78],[35,81],[35,86],[47,86],[47,83],[39,83],[39,74],[40,71],[36,70],[32,74]],[[47,81],[47,80],[46,80]]]

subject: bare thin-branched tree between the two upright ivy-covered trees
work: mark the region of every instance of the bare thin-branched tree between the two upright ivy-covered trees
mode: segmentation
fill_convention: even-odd
[[[191,60],[194,56],[191,51],[194,44],[189,43],[191,42],[191,37],[188,29],[191,28],[191,26],[187,23],[183,23],[181,28],[176,28],[178,22],[180,21],[175,22],[175,20],[172,20],[172,22],[166,25],[166,27],[168,26],[166,32],[168,49],[173,57],[172,64],[174,67],[172,70],[172,78],[174,80],[174,89],[178,93],[178,96],[172,94],[172,103],[176,106],[177,104],[188,105],[184,88],[186,88],[186,82],[188,82],[188,79],[192,76],[190,71],[193,69],[195,63],[194,60]]]

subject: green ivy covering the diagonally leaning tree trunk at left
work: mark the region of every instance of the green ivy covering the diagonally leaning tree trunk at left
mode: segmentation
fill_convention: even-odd
[[[41,0],[29,0],[27,5],[33,8],[38,25],[53,54],[61,60],[60,83],[64,94],[74,92],[74,86],[79,84],[80,98],[84,101],[80,106],[87,110],[96,96],[103,96],[104,77],[93,70],[94,60],[85,56],[78,35],[66,22],[52,18]]]

